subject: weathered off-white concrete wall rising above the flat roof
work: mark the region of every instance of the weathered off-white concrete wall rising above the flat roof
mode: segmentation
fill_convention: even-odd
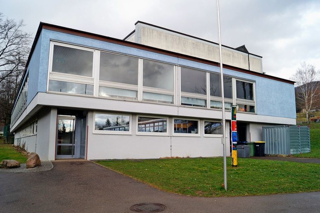
[[[138,22],[126,40],[219,62],[217,44]],[[222,46],[224,64],[262,73],[262,58]],[[250,63],[250,66],[249,66]]]

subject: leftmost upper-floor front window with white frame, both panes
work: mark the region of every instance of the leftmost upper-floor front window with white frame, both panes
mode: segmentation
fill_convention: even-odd
[[[57,42],[50,48],[47,91],[93,95],[94,50]]]

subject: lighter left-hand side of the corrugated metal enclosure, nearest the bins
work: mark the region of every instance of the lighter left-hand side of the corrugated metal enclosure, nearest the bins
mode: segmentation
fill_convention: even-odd
[[[265,154],[289,154],[288,126],[263,127],[262,140],[265,141]]]

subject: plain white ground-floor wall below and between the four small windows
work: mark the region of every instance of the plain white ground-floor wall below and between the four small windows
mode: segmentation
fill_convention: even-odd
[[[137,135],[135,124],[133,114],[130,135],[92,133],[93,112],[89,112],[87,159],[223,156],[221,137],[170,136],[171,123],[168,136]]]

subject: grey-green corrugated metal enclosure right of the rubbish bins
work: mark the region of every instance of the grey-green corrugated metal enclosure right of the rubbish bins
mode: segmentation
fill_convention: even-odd
[[[310,152],[308,126],[279,125],[262,127],[265,154],[297,154]]]

